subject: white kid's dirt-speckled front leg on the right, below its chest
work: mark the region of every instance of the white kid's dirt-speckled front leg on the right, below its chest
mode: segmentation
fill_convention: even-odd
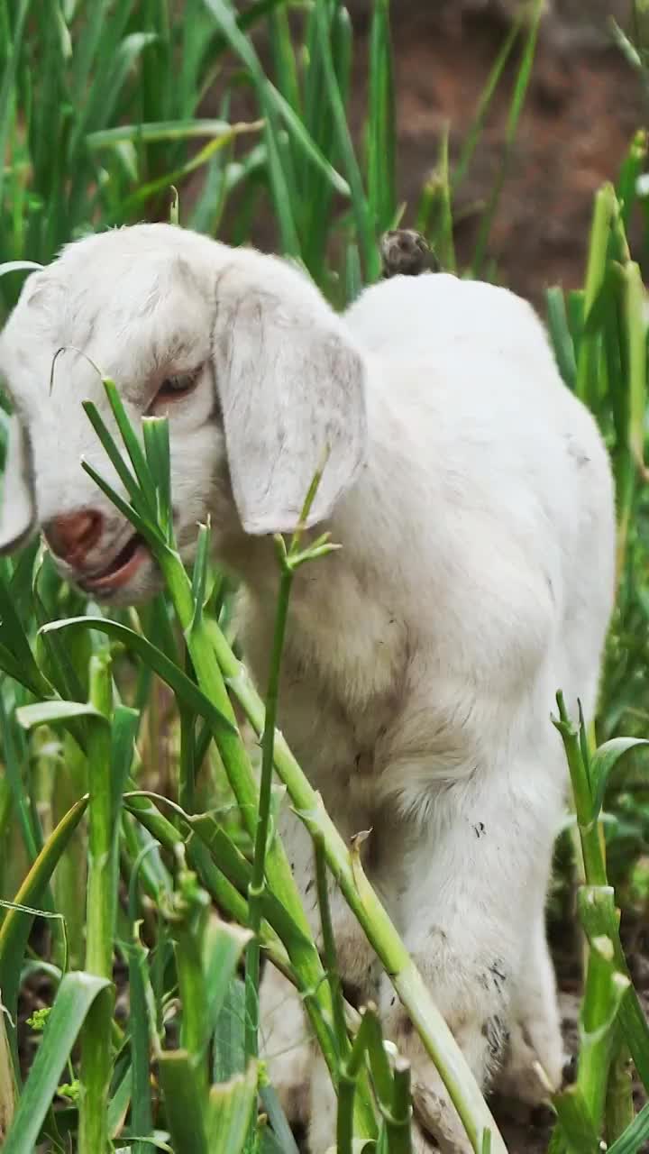
[[[540,744],[540,743],[539,743]],[[560,749],[549,740],[510,764],[473,770],[422,799],[402,902],[405,944],[483,1089],[500,1065],[527,954],[538,935],[562,801]],[[403,779],[403,767],[401,769]],[[422,781],[422,766],[416,767]],[[410,1019],[386,981],[386,1036],[412,1064],[413,1102],[442,1151],[470,1145]],[[561,1040],[550,1017],[549,1079]]]

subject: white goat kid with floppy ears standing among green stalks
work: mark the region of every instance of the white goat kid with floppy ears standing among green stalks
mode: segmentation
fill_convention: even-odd
[[[80,469],[83,455],[111,475],[81,409],[91,397],[106,413],[89,358],[133,418],[169,412],[182,555],[209,514],[244,582],[261,687],[268,534],[294,527],[329,445],[311,523],[343,549],[296,579],[281,725],[341,832],[372,829],[370,875],[482,1085],[501,1067],[527,1099],[558,1086],[544,900],[566,773],[550,713],[561,687],[592,714],[614,518],[597,428],[535,313],[428,273],[375,285],[338,317],[291,265],[170,225],[67,247],[30,276],[0,337],[16,410],[0,533],[10,548],[42,526],[64,576],[125,602],[161,578]],[[308,839],[290,812],[283,833],[315,924]],[[366,997],[372,952],[337,894],[334,914],[344,976]],[[385,977],[379,996],[424,1130],[468,1149]],[[279,979],[263,997],[273,1055],[304,1027]],[[275,1064],[297,1114],[308,1084],[320,1091],[303,1058]],[[316,1154],[330,1123],[322,1100]]]

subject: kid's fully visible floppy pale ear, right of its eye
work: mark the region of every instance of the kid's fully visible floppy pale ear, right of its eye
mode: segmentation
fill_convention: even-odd
[[[314,310],[246,288],[219,308],[214,352],[244,530],[294,530],[327,452],[307,525],[323,520],[352,484],[367,442],[365,366],[343,325],[322,300]]]

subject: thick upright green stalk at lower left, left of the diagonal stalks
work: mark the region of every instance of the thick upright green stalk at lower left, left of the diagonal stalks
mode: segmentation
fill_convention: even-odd
[[[88,929],[85,969],[112,980],[115,874],[112,868],[113,814],[111,782],[111,674],[109,661],[90,662],[90,700],[106,719],[88,732],[89,833]],[[80,1154],[107,1151],[107,1103],[112,1073],[111,1022],[114,991],[102,990],[83,1027],[81,1052]]]

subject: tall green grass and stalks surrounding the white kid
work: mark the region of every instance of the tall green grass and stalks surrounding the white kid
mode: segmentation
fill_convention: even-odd
[[[16,299],[24,262],[51,260],[84,231],[171,211],[210,233],[223,235],[226,224],[234,241],[247,238],[258,209],[270,211],[278,247],[338,306],[378,278],[379,239],[404,212],[454,268],[454,197],[493,95],[509,83],[506,147],[471,261],[480,272],[539,14],[536,3],[505,40],[457,164],[445,137],[419,203],[404,207],[397,198],[387,0],[373,6],[359,142],[349,117],[357,47],[337,0],[299,8],[256,0],[243,12],[229,0],[5,5],[3,309]],[[635,51],[628,42],[625,50]],[[203,117],[204,98],[214,92],[218,118]],[[241,104],[248,113],[234,117]],[[639,134],[621,172],[596,196],[583,290],[547,293],[561,373],[600,424],[619,494],[618,608],[590,737],[583,719],[568,718],[558,698],[589,950],[577,1077],[553,1100],[553,1154],[595,1152],[604,1137],[610,1151],[631,1154],[649,1134],[647,1109],[634,1117],[627,1077],[631,1056],[649,1091],[649,1031],[610,884],[612,878],[620,893],[634,886],[637,893],[639,850],[649,838],[649,788],[636,750],[649,732],[647,324],[628,242],[632,220],[644,216],[637,178],[646,152]],[[196,173],[197,192],[192,185],[187,196]],[[176,208],[172,186],[180,193]],[[236,652],[232,590],[211,565],[209,527],[201,530],[192,576],[176,550],[165,422],[146,421],[139,440],[114,384],[105,385],[120,442],[92,406],[88,418],[128,493],[127,503],[113,497],[158,557],[166,591],[151,606],[111,620],[59,582],[37,545],[0,563],[3,1149],[27,1154],[43,1142],[81,1154],[294,1154],[259,1061],[263,959],[304,1001],[338,1094],[340,1154],[406,1154],[410,1071],[383,1046],[374,1009],[359,1016],[344,1003],[328,912],[333,872],[438,1065],[473,1149],[503,1152],[488,1107],[358,854],[344,845],[275,732],[292,572],[303,563],[327,564],[331,544],[322,539],[303,550],[299,534],[277,541],[281,595],[264,704]],[[95,475],[105,487],[100,470]],[[261,765],[237,725],[241,714],[261,737]],[[620,728],[629,736],[620,739]],[[274,832],[275,778],[313,837],[322,956]],[[641,900],[647,902],[646,882]],[[36,975],[46,979],[47,1006],[18,1031],[18,1009],[32,998]]]

